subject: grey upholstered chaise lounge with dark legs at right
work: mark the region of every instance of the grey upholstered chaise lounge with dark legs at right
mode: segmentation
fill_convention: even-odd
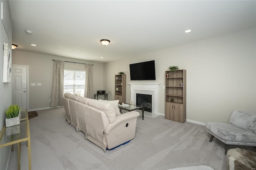
[[[229,145],[254,146],[256,151],[256,114],[234,111],[229,123],[207,122],[206,130],[225,144],[225,154]]]

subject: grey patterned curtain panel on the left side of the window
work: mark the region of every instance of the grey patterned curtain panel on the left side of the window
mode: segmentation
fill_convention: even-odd
[[[64,61],[54,61],[51,107],[63,106]]]

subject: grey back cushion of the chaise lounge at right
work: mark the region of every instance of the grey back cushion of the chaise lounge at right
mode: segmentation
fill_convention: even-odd
[[[256,134],[256,114],[234,111],[230,117],[230,124]]]

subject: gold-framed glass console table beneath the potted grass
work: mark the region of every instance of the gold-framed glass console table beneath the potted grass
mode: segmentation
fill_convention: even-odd
[[[21,110],[20,125],[12,127],[3,127],[0,133],[0,148],[12,145],[14,151],[14,144],[18,145],[18,170],[20,170],[20,147],[21,142],[27,141],[28,147],[28,169],[31,170],[31,148],[30,148],[30,128],[28,121],[27,109]]]

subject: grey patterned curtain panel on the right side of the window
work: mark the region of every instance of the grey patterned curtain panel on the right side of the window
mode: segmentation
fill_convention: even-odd
[[[85,65],[84,97],[93,99],[92,64]]]

